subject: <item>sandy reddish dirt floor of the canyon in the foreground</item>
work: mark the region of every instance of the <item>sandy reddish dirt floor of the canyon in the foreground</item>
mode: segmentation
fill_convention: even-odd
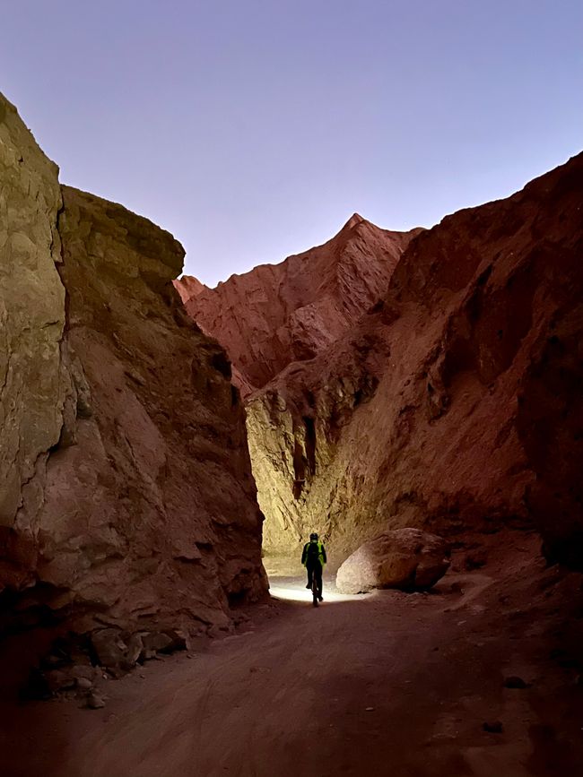
[[[4,731],[19,764],[9,773],[579,773],[583,704],[568,651],[581,613],[565,626],[556,604],[580,575],[545,568],[533,535],[496,542],[492,565],[448,573],[429,594],[332,595],[318,609],[274,599],[204,652],[109,681],[103,710],[23,707]],[[299,596],[301,584],[272,579]],[[512,676],[526,687],[505,687]],[[483,729],[497,721],[500,733]]]

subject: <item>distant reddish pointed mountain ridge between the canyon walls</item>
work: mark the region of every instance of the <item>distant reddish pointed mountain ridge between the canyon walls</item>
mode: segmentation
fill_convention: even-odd
[[[181,279],[187,312],[226,348],[244,396],[284,367],[314,358],[387,290],[413,235],[379,229],[357,213],[324,246],[232,275],[216,289]],[[193,285],[194,284],[194,285]]]

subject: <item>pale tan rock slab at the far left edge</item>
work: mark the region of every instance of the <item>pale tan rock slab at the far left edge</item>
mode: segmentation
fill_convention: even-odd
[[[42,480],[61,432],[65,289],[56,268],[57,172],[0,95],[0,556],[12,542],[22,499],[30,514],[39,509],[41,494],[31,484]],[[5,565],[0,570],[12,575]]]

